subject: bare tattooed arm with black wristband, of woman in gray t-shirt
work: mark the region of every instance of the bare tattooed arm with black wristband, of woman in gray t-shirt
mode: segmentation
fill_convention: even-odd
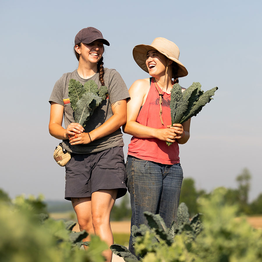
[[[119,100],[111,104],[113,116],[111,116],[105,123],[98,128],[89,132],[91,140],[94,141],[101,137],[105,137],[120,128],[126,122],[126,99]],[[78,134],[77,138],[70,141],[71,145],[89,144],[90,138],[88,133],[82,132]]]

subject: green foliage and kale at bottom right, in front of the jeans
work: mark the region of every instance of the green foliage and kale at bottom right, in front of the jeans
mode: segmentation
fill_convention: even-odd
[[[185,203],[178,208],[177,223],[168,229],[160,215],[145,212],[147,225],[132,226],[137,256],[126,247],[111,250],[126,262],[261,262],[262,231],[244,217],[236,219],[238,206],[228,204],[225,188],[199,199],[197,214],[189,219]]]

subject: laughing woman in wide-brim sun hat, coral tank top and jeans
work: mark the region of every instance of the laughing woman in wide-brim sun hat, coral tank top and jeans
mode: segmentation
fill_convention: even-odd
[[[151,45],[135,46],[133,57],[151,77],[139,79],[130,87],[123,128],[133,135],[126,163],[131,226],[146,223],[143,212],[150,211],[159,213],[170,227],[176,220],[183,180],[178,144],[185,144],[190,136],[190,119],[171,126],[170,92],[178,78],[188,73],[178,60],[177,45],[165,38],[155,38]],[[167,146],[166,141],[173,144]],[[129,249],[134,252],[132,235]]]

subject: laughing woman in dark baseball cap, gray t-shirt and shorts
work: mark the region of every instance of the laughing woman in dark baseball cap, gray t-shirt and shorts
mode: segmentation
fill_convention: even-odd
[[[94,27],[84,28],[75,36],[78,68],[63,74],[54,85],[49,99],[49,132],[62,139],[63,148],[71,154],[65,165],[65,199],[72,202],[80,230],[86,230],[89,236],[100,236],[110,246],[113,244],[111,209],[116,198],[127,192],[120,127],[126,122],[129,93],[119,73],[103,67],[104,45],[109,46],[109,42]],[[95,109],[85,128],[75,123],[68,97],[70,79],[80,82],[79,85],[93,80],[98,88],[106,86],[108,90],[106,99]],[[89,241],[89,236],[85,241]],[[111,261],[110,250],[104,255],[106,261]]]

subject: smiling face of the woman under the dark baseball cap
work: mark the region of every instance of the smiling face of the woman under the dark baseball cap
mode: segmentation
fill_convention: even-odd
[[[76,45],[75,50],[80,55],[79,61],[98,63],[103,55],[104,46],[100,40],[95,40],[90,44]]]

